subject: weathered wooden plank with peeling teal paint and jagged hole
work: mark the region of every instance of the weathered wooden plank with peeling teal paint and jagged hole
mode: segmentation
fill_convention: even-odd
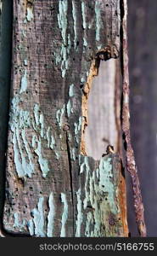
[[[120,23],[119,0],[14,0],[5,230],[127,236],[118,156],[80,154],[90,68],[118,57]]]

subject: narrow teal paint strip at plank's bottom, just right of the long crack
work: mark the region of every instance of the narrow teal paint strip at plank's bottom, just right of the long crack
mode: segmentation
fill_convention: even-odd
[[[81,189],[76,192],[77,197],[77,219],[76,219],[76,237],[81,237],[81,224],[83,221]]]

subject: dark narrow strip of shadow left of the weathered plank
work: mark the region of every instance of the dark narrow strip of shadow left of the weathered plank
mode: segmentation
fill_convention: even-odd
[[[8,114],[12,63],[13,1],[3,0],[0,14],[0,230],[3,230],[5,200],[5,169],[8,145]],[[11,235],[10,235],[11,236]]]

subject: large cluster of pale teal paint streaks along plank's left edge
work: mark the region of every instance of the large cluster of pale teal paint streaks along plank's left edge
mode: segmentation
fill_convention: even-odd
[[[31,148],[26,141],[25,128],[31,126],[30,113],[20,109],[20,98],[15,96],[11,102],[9,125],[13,132],[14,164],[18,177],[31,177],[34,172]],[[23,147],[24,146],[24,147]]]

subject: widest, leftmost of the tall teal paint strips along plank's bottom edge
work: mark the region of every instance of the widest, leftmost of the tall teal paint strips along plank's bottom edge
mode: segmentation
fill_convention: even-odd
[[[44,213],[43,213],[43,202],[44,198],[40,197],[37,208],[31,211],[33,216],[33,222],[35,225],[35,235],[39,237],[45,237],[45,224],[44,224]]]

